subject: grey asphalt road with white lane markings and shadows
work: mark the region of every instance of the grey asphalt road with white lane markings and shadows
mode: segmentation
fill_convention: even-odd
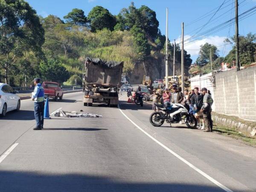
[[[82,97],[50,101],[50,113],[103,117],[52,117],[33,131],[33,103],[23,100],[20,112],[0,119],[0,192],[256,191],[256,148],[184,125],[155,128],[151,105],[125,95],[120,109],[84,107]]]

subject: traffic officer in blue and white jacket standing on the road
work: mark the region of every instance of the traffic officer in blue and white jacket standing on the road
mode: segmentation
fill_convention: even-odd
[[[44,89],[40,83],[41,79],[35,78],[35,89],[32,93],[31,100],[34,101],[35,106],[35,121],[36,127],[34,130],[41,130],[44,128]]]

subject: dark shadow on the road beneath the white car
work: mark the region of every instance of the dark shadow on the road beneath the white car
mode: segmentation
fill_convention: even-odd
[[[34,111],[20,110],[10,111],[5,117],[0,117],[0,120],[33,120],[35,119]]]

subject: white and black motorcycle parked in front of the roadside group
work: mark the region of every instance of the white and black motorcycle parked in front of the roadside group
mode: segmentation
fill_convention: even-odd
[[[178,123],[182,120],[182,117],[185,116],[184,121],[188,128],[195,129],[198,122],[193,114],[189,113],[189,105],[188,104],[178,104],[178,103],[170,103],[165,102],[163,105],[154,104],[159,112],[154,112],[150,115],[149,121],[151,125],[155,127],[160,127],[163,125],[164,121],[170,123]]]

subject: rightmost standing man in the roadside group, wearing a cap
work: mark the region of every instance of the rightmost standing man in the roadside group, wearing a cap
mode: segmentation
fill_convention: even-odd
[[[205,130],[204,132],[210,132],[212,131],[212,96],[207,93],[207,88],[202,88],[201,90],[202,95],[204,95],[204,99],[203,99],[203,106],[201,108],[201,112],[203,113],[203,117],[204,117],[204,125],[205,125]]]

